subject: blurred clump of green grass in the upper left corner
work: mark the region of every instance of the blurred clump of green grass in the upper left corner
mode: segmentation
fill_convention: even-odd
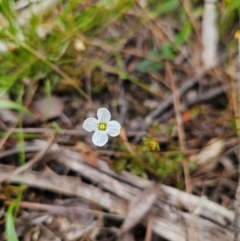
[[[50,8],[40,17],[32,16],[26,26],[19,26],[14,1],[1,1],[7,26],[2,27],[0,39],[11,44],[11,51],[1,58],[0,86],[5,93],[14,92],[23,85],[22,79],[32,81],[46,79],[51,85],[63,81],[73,86],[84,97],[78,87],[79,70],[73,69],[78,53],[74,41],[83,38],[85,44],[104,31],[128,11],[134,1],[99,1],[88,5],[88,1],[63,1],[55,12]],[[50,29],[47,36],[39,35],[40,29]],[[39,79],[38,79],[39,76]]]

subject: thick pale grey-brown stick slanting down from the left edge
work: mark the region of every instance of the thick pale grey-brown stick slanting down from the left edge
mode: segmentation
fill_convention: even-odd
[[[11,175],[12,168],[12,166],[0,164],[0,173],[3,180],[8,179],[10,183],[17,182],[29,187],[80,197],[98,204],[110,212],[122,215],[127,213],[127,202],[125,200],[116,197],[114,194],[104,192],[93,185],[85,184],[79,178],[30,170],[27,170],[24,174]]]

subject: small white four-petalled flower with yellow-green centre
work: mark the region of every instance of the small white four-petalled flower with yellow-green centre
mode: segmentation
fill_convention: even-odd
[[[97,111],[97,117],[87,118],[83,123],[86,131],[95,131],[92,136],[92,142],[96,146],[104,146],[108,141],[108,135],[118,136],[121,125],[117,121],[110,121],[111,114],[106,108],[100,108]]]

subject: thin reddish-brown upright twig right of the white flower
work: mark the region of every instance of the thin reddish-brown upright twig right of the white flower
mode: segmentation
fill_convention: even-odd
[[[176,86],[175,83],[175,76],[173,75],[170,63],[166,64],[166,70],[167,70],[167,74],[169,75],[169,79],[171,82],[171,88],[172,88],[172,92],[173,92],[173,106],[174,106],[174,110],[175,110],[175,115],[176,115],[176,121],[177,121],[177,130],[178,130],[178,138],[179,138],[179,144],[181,147],[182,152],[185,154],[186,153],[186,137],[185,137],[185,132],[184,132],[184,125],[183,125],[183,118],[182,118],[182,114],[181,114],[181,104],[180,104],[180,95],[179,95],[179,91],[178,88]],[[188,199],[190,198],[190,194],[191,194],[191,181],[190,181],[190,171],[189,171],[189,167],[187,166],[187,164],[185,163],[185,161],[182,162],[183,164],[183,171],[184,171],[184,178],[185,178],[185,183],[186,183],[186,191],[188,193]],[[191,202],[189,200],[189,212],[192,213],[193,209],[191,207]],[[190,219],[190,233],[191,233],[191,240],[197,240],[196,236],[194,235],[194,217],[192,215],[192,218]]]

